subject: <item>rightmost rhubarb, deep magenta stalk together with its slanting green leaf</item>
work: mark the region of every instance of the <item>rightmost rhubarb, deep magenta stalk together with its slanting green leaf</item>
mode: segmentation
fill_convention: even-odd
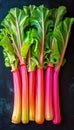
[[[53,32],[54,48],[55,48],[55,51],[53,51],[55,54],[55,56],[53,55],[54,63],[55,63],[54,77],[53,77],[53,110],[54,110],[53,123],[54,124],[59,124],[61,122],[60,101],[59,101],[60,100],[59,99],[59,71],[62,66],[62,63],[64,63],[63,62],[64,55],[68,45],[73,22],[74,22],[73,18],[65,18],[65,20],[60,22],[60,24],[56,27],[56,29]],[[58,57],[58,60],[56,56]]]

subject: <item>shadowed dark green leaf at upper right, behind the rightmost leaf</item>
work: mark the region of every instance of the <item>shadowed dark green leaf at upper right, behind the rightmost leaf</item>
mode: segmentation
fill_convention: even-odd
[[[57,25],[63,20],[63,17],[67,12],[67,8],[65,6],[59,6],[58,8],[50,9],[50,11],[51,11],[51,19],[53,21],[52,33],[50,34],[50,48],[52,48],[54,44],[53,31],[55,30]]]

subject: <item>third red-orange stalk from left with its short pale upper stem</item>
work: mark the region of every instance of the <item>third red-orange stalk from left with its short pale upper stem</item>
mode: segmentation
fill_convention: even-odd
[[[32,48],[28,52],[28,75],[29,75],[29,120],[35,120],[35,67],[32,68],[34,62],[31,60]]]

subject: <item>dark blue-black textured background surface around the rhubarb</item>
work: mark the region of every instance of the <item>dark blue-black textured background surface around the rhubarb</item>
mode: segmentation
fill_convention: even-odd
[[[23,5],[44,4],[48,8],[67,6],[67,16],[74,17],[73,0],[0,0],[0,22],[12,7]],[[13,82],[10,68],[5,68],[2,48],[0,47],[0,130],[74,130],[74,25],[66,50],[67,63],[60,70],[60,104],[62,123],[53,125],[45,122],[43,125],[29,123],[28,125],[14,125],[11,123],[13,109]]]

